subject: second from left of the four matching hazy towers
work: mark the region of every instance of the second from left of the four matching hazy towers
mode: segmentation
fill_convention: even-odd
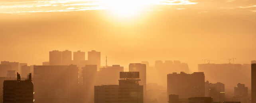
[[[69,50],[62,51],[62,65],[71,65],[72,52]]]

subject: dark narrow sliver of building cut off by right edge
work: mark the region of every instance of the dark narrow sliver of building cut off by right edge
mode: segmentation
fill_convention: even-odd
[[[252,103],[256,103],[256,61],[252,61],[251,65],[252,78]]]

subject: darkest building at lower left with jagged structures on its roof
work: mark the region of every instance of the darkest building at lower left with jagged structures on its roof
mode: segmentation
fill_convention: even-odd
[[[3,103],[33,103],[33,101],[31,73],[26,80],[20,80],[18,72],[17,80],[4,80]]]

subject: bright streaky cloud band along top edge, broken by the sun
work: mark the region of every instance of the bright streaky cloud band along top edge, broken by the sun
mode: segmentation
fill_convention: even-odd
[[[189,5],[197,2],[188,0],[151,0],[147,5]],[[42,0],[28,2],[2,2],[0,13],[35,13],[35,12],[64,12],[83,10],[108,9],[107,1],[102,0]],[[31,11],[33,10],[33,11]]]

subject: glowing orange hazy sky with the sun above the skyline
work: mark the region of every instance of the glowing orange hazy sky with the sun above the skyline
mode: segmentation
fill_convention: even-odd
[[[41,65],[51,50],[96,50],[108,65],[256,59],[256,0],[1,0],[0,60]],[[87,58],[87,56],[86,56]],[[223,60],[220,60],[223,59]]]

